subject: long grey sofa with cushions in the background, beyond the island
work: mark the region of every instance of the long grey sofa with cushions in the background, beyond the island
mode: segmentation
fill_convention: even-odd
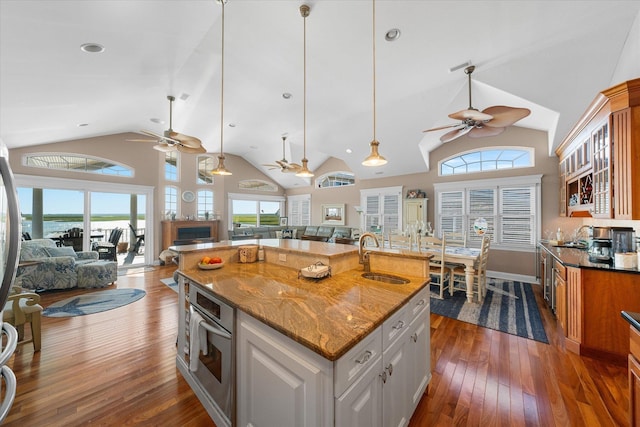
[[[229,230],[230,240],[301,239],[330,243],[355,243],[360,229],[345,226],[294,225],[272,227],[236,227]]]

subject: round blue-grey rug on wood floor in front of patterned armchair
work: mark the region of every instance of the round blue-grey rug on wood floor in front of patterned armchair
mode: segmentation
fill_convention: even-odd
[[[113,310],[144,297],[142,289],[109,289],[76,295],[51,304],[42,312],[47,317],[73,317]]]

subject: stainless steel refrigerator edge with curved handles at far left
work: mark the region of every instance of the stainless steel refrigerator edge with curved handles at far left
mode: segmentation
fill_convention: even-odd
[[[0,385],[3,399],[0,402],[0,424],[11,410],[16,396],[16,376],[6,362],[16,349],[18,333],[8,323],[2,322],[2,309],[7,302],[9,291],[16,278],[18,254],[21,241],[21,217],[18,207],[18,196],[9,167],[8,150],[0,141],[0,377],[4,385]]]

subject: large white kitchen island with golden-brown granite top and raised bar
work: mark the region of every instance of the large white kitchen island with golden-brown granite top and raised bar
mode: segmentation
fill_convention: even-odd
[[[251,243],[263,247],[265,261],[239,263],[239,246]],[[362,277],[353,245],[267,239],[172,249],[180,254],[183,301],[177,365],[217,425],[408,423],[431,378],[429,255],[389,254],[406,279],[390,284]],[[225,264],[201,270],[204,255]],[[331,266],[331,276],[300,277],[317,260]],[[193,290],[234,310],[229,417],[189,369]]]

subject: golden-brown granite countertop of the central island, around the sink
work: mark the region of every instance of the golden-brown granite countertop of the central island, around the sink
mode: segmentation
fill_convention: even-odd
[[[299,241],[304,243],[317,242]],[[299,278],[298,270],[265,262],[227,263],[218,270],[195,267],[180,273],[331,361],[428,283],[423,277],[407,275],[402,277],[410,282],[403,285],[377,282],[361,277],[362,268],[324,279]]]

